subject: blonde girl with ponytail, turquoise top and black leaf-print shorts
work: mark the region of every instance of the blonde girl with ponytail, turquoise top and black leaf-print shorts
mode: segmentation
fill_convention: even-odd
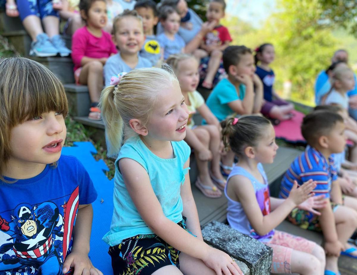
[[[114,213],[103,237],[114,274],[242,274],[203,242],[183,141],[188,110],[172,70],[112,77],[100,106],[108,154],[117,157]]]

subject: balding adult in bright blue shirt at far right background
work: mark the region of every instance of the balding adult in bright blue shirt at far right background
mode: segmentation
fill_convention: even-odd
[[[336,62],[346,62],[348,63],[348,52],[346,50],[340,49],[337,50],[332,58],[331,62],[336,63]],[[357,120],[357,78],[356,74],[354,74],[355,77],[355,88],[351,91],[347,92],[348,96],[348,101],[349,101],[349,113],[350,116],[353,117],[354,119]],[[315,103],[316,105],[321,104],[321,98],[328,92],[330,91],[331,88],[331,83],[329,81],[329,76],[327,74],[327,71],[321,71],[315,82]]]

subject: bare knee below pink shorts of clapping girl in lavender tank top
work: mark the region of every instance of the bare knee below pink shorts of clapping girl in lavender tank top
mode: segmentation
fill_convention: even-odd
[[[325,266],[321,266],[321,261],[316,256],[292,250],[291,252],[291,273],[298,273],[301,275],[323,275]]]

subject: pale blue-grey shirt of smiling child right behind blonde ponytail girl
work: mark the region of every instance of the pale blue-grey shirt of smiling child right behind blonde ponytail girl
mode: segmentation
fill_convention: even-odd
[[[124,60],[122,60],[120,53],[118,52],[117,54],[109,57],[107,62],[105,62],[105,65],[103,68],[105,86],[109,86],[110,78],[112,76],[116,76],[121,72],[130,72],[131,70],[134,70],[134,69],[151,68],[151,67],[152,67],[151,62],[149,60],[138,55],[138,62],[137,62],[136,67],[130,68],[124,62]]]

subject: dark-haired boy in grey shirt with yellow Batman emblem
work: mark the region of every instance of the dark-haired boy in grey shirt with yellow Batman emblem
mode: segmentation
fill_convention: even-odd
[[[153,67],[157,66],[160,63],[161,50],[154,34],[154,27],[159,22],[156,3],[153,0],[139,0],[136,2],[134,9],[142,17],[145,35],[144,46],[139,54],[148,59]]]

